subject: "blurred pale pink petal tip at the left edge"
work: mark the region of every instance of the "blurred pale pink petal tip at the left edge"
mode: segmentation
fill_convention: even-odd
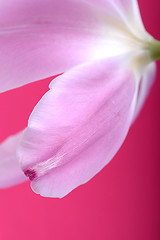
[[[0,188],[11,187],[27,180],[16,157],[22,132],[7,138],[0,145]]]

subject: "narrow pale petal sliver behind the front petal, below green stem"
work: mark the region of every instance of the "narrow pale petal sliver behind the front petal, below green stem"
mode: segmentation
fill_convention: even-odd
[[[139,83],[137,103],[135,108],[134,120],[138,116],[141,108],[143,107],[146,98],[148,97],[150,90],[153,86],[156,75],[156,64],[150,63],[142,75],[142,78]]]

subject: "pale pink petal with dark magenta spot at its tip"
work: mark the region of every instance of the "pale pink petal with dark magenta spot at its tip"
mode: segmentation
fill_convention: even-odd
[[[118,151],[132,120],[136,88],[123,60],[84,64],[52,81],[18,151],[35,192],[62,197]]]

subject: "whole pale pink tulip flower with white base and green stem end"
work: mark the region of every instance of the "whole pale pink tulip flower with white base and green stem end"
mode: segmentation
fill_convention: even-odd
[[[160,43],[136,0],[0,1],[0,90],[58,73],[0,145],[0,187],[63,197],[116,154],[154,81]],[[24,172],[24,173],[23,173]]]

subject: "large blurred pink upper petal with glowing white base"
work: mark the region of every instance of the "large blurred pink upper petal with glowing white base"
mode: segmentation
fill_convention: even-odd
[[[129,20],[122,21],[127,10],[121,14],[120,5],[116,0],[0,1],[0,92],[131,50]]]

